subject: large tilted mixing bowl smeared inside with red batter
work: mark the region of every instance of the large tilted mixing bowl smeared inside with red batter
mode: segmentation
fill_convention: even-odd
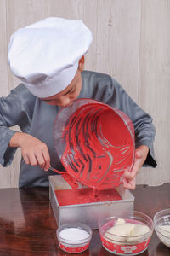
[[[120,185],[124,170],[133,166],[131,120],[94,100],[80,99],[61,109],[54,125],[54,145],[71,177],[94,189]]]

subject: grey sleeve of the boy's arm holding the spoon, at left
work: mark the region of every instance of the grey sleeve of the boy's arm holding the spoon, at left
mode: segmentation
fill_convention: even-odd
[[[7,97],[0,98],[0,164],[11,164],[17,148],[9,148],[8,144],[14,131],[10,127],[18,125],[23,132],[30,131],[31,117],[36,97],[20,84],[11,90]]]

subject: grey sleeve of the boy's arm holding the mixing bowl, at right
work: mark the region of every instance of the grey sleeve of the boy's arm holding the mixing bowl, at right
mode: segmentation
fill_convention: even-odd
[[[115,79],[112,79],[111,87],[107,91],[107,103],[126,113],[132,120],[135,131],[136,148],[139,148],[141,145],[146,145],[150,149],[144,166],[156,167],[153,147],[156,129],[150,115],[145,113],[144,110],[128,96],[127,92],[123,90],[122,86],[118,84]]]

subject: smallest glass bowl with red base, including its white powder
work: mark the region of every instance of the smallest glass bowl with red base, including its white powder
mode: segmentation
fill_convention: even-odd
[[[59,247],[67,253],[82,253],[92,238],[91,228],[82,223],[62,224],[57,229]]]

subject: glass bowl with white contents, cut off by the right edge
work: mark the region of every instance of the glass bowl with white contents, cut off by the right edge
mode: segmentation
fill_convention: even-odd
[[[156,234],[161,242],[170,247],[170,208],[157,212],[154,216]]]

